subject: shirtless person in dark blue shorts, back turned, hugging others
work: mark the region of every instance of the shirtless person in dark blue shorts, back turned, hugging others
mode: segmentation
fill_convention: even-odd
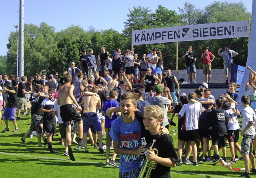
[[[92,93],[97,93],[99,87],[98,86],[93,86],[91,89]],[[100,125],[100,120],[97,115],[96,107],[98,109],[101,109],[101,102],[100,102],[100,97],[97,97],[95,95],[93,96],[88,96],[85,95],[83,100],[82,100],[82,105],[84,105],[84,114],[83,114],[83,123],[84,123],[84,143],[87,146],[87,133],[90,129],[90,126],[94,128],[94,131],[96,131],[99,134],[99,151],[100,153],[104,153],[102,149],[102,127]],[[87,147],[84,150],[85,153],[88,152]]]

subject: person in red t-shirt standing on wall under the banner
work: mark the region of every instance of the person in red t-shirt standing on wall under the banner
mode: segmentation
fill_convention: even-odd
[[[203,59],[203,69],[206,83],[210,83],[212,73],[211,62],[214,60],[214,58],[215,56],[212,54],[212,52],[208,51],[208,47],[204,47],[204,52],[202,52],[201,59]]]

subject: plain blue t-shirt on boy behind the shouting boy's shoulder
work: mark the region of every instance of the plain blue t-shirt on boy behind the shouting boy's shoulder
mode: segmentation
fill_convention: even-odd
[[[104,106],[102,107],[102,111],[105,113],[105,128],[111,128],[111,123],[117,118],[117,113],[114,113],[111,117],[111,119],[106,115],[106,111],[110,107],[119,107],[118,102],[114,101],[113,99],[107,100],[104,103]]]

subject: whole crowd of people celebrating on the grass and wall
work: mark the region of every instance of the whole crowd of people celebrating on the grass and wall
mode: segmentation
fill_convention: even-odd
[[[225,65],[225,57],[230,62],[232,56],[238,53],[230,50],[229,46],[225,46],[225,49],[220,53],[220,48],[218,52],[224,58],[226,77],[230,66]],[[52,138],[59,130],[65,146],[64,155],[75,161],[72,143],[77,145],[76,150],[84,149],[84,153],[89,153],[88,134],[92,146],[104,154],[102,140],[106,134],[105,165],[119,167],[120,178],[144,174],[141,167],[146,160],[156,162],[156,168],[151,172],[151,177],[154,178],[170,177],[170,168],[182,164],[198,166],[198,162],[213,162],[213,165],[220,161],[228,162],[227,145],[232,156],[229,164],[244,160],[245,173],[242,177],[250,177],[250,172],[256,172],[256,72],[249,66],[247,69],[250,74],[245,87],[247,95],[240,98],[235,91],[236,83],[230,81],[229,91],[215,99],[208,88],[210,63],[204,63],[206,82],[198,85],[199,88],[194,92],[186,94],[180,93],[180,85],[171,69],[163,72],[161,51],[153,48],[148,55],[142,55],[141,61],[138,59],[139,55],[134,54],[134,49],[127,49],[122,55],[120,48],[117,48],[112,58],[105,47],[101,47],[101,51],[96,59],[92,49],[89,50],[89,55],[86,55],[86,50],[82,50],[80,68],[75,67],[75,62],[72,62],[68,71],[62,72],[60,80],[58,72],[48,74],[46,79],[43,74],[45,70],[36,73],[35,79],[30,77],[30,82],[26,76],[22,76],[18,83],[19,79],[15,79],[13,74],[8,76],[4,73],[4,80],[0,75],[0,106],[4,108],[1,117],[6,124],[2,133],[10,131],[8,119],[14,124],[13,133],[19,131],[16,119],[20,118],[20,111],[23,109],[24,115],[30,115],[30,102],[31,123],[20,139],[23,144],[27,145],[26,138],[36,131],[38,146],[48,145],[50,153],[58,153],[53,148]],[[191,46],[182,56],[185,57],[188,79],[192,72],[192,83],[196,83],[196,56]],[[214,55],[206,47],[201,58],[211,62]],[[139,81],[139,72],[142,87],[133,89],[132,84]],[[244,107],[243,111],[236,108],[240,102]],[[178,143],[173,142],[168,132],[169,125],[176,127],[173,121],[176,114]],[[238,123],[240,115],[243,118],[241,133]],[[243,137],[241,145],[238,144],[239,134]],[[111,146],[114,153],[110,158]],[[158,150],[158,154],[154,148]],[[175,148],[178,148],[178,152]],[[182,160],[183,150],[185,158]],[[192,162],[189,159],[191,152]],[[242,156],[238,156],[238,152]],[[117,154],[120,154],[119,165],[116,162]]]

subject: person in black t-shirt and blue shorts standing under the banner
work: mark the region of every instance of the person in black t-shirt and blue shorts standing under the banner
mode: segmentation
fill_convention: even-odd
[[[190,83],[190,73],[193,73],[192,83],[196,83],[196,55],[194,52],[192,52],[192,46],[188,47],[188,51],[182,56],[182,59],[185,59],[185,57],[187,65],[188,84]]]

